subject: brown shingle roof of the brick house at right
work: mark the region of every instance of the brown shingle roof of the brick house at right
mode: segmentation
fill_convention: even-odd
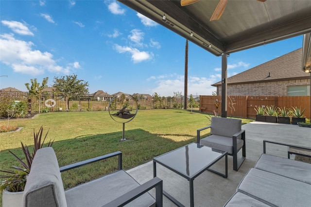
[[[260,64],[227,79],[228,85],[238,83],[270,82],[278,80],[297,80],[310,77],[301,69],[302,48]],[[270,76],[269,76],[270,75]],[[221,81],[212,86],[221,85]]]

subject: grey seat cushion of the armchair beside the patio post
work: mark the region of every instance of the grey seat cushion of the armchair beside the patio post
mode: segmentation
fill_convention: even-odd
[[[219,135],[210,135],[206,138],[200,140],[200,143],[212,148],[220,149],[228,152],[228,154],[233,153],[233,140],[232,137],[224,137]],[[237,146],[239,151],[243,146],[244,141],[237,139]]]

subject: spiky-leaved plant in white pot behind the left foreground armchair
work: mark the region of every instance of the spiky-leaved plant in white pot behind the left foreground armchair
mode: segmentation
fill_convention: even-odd
[[[0,175],[0,178],[4,178],[0,184],[0,191],[2,192],[2,207],[18,207],[22,205],[22,195],[27,182],[27,175],[30,172],[35,153],[38,149],[43,147],[48,132],[42,139],[43,127],[40,127],[37,133],[35,133],[34,129],[34,150],[32,153],[26,144],[21,143],[26,162],[18,158],[17,155],[9,150],[22,167],[12,166],[11,170],[0,170],[0,172],[4,173],[3,175]],[[51,142],[50,140],[47,146],[52,146],[53,142],[54,141]]]

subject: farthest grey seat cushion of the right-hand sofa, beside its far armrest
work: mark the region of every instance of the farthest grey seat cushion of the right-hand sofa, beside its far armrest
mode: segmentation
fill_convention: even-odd
[[[311,184],[311,164],[262,154],[255,168]]]

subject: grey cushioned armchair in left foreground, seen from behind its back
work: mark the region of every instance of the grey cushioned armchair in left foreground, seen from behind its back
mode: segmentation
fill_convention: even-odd
[[[118,156],[115,173],[64,191],[61,172]],[[23,193],[23,207],[162,207],[162,180],[155,177],[138,182],[122,170],[122,153],[115,152],[59,168],[52,147],[39,149],[32,163]],[[156,198],[148,191],[155,188]]]

